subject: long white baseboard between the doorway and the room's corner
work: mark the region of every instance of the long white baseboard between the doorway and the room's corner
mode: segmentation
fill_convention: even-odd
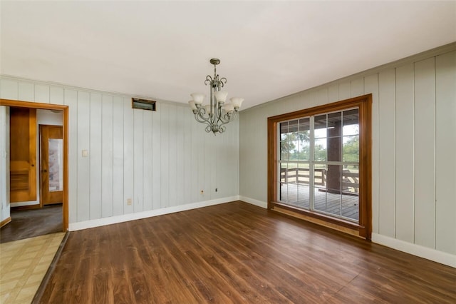
[[[100,227],[110,224],[123,223],[128,221],[140,220],[141,218],[151,218],[152,216],[162,216],[169,213],[175,213],[180,211],[187,211],[196,208],[202,208],[207,206],[218,205],[221,203],[229,203],[232,201],[239,201],[239,196],[229,196],[227,198],[217,198],[210,201],[202,201],[197,203],[189,203],[180,206],[172,206],[167,208],[160,208],[157,210],[142,211],[138,213],[129,213],[122,216],[110,216],[109,218],[98,218],[96,220],[82,221],[78,223],[70,223],[68,230],[76,231],[87,228]]]

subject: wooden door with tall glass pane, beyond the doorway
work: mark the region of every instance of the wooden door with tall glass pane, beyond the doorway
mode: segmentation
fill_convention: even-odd
[[[40,125],[41,203],[63,202],[63,128]]]

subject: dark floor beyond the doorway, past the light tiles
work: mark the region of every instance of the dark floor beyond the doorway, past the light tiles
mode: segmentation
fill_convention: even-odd
[[[0,243],[62,232],[62,204],[40,209],[11,209],[11,222],[0,229]]]

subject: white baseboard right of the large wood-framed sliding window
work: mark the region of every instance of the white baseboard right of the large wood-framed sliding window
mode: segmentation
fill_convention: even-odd
[[[403,240],[398,240],[397,238],[390,238],[389,236],[377,233],[372,233],[372,241],[373,243],[385,245],[386,247],[417,255],[420,258],[426,258],[427,260],[433,260],[434,262],[456,268],[456,255],[452,255],[450,253],[444,253],[442,251],[408,243]]]

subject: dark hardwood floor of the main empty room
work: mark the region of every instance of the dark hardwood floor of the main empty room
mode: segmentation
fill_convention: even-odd
[[[456,303],[456,269],[237,201],[71,232],[39,303]]]

